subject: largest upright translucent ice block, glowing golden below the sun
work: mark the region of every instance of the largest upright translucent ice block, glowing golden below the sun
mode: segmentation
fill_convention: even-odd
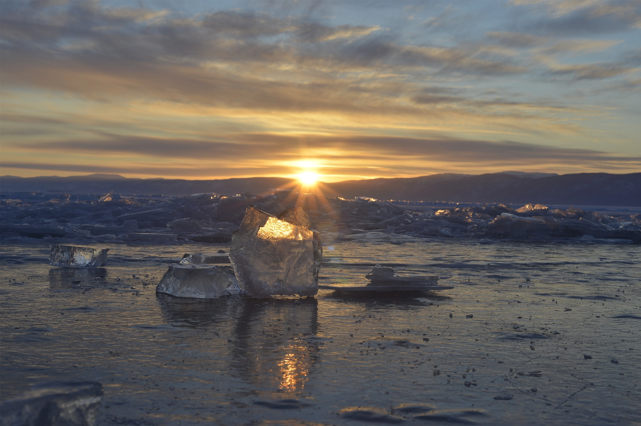
[[[254,297],[313,296],[322,264],[320,234],[309,228],[303,209],[286,209],[279,217],[247,207],[229,250],[238,285]]]

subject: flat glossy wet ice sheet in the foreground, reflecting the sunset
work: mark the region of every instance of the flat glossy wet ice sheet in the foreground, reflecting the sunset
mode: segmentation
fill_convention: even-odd
[[[155,294],[167,263],[228,246],[115,244],[83,270],[4,244],[0,396],[99,381],[101,425],[638,422],[639,246],[332,246],[322,284],[365,285],[374,262],[458,284],[179,299]]]

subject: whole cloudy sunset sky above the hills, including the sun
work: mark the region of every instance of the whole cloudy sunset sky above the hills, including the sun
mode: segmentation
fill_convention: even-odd
[[[0,1],[0,173],[641,171],[641,1]]]

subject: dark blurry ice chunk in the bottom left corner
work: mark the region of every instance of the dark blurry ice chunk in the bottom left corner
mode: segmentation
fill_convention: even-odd
[[[0,406],[2,425],[93,426],[103,386],[97,382],[37,384]]]

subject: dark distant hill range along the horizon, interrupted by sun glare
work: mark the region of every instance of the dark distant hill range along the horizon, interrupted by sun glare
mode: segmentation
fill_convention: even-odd
[[[3,192],[46,192],[104,194],[194,193],[262,194],[283,187],[290,178],[253,177],[217,180],[139,179],[120,175],[72,177],[0,177]],[[641,173],[577,173],[552,175],[508,171],[485,175],[443,173],[414,178],[346,180],[322,185],[328,195],[353,198],[369,196],[381,200],[456,201],[477,203],[547,203],[574,205],[641,206]],[[331,191],[331,194],[329,191]]]

